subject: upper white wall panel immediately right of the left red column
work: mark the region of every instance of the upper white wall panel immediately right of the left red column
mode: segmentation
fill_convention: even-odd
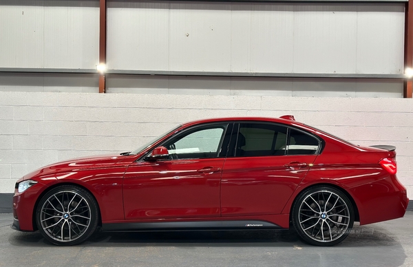
[[[110,69],[169,69],[168,2],[109,1],[107,32]]]

